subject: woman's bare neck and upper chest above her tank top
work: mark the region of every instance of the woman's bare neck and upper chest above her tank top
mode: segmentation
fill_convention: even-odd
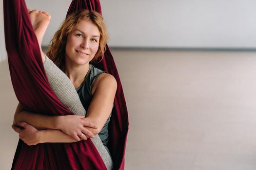
[[[75,88],[78,88],[83,83],[89,69],[89,64],[76,67],[66,64],[65,74],[71,80]]]

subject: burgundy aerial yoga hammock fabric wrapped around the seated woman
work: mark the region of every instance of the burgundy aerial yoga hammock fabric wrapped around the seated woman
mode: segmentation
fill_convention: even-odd
[[[52,91],[41,61],[24,0],[4,0],[5,41],[12,84],[19,102],[26,110],[48,115],[73,114]],[[101,13],[98,0],[73,0],[68,14],[81,9]],[[112,74],[118,89],[109,123],[109,150],[114,169],[124,169],[128,115],[113,57],[107,47],[97,68]],[[92,140],[76,143],[42,143],[28,146],[22,140],[15,153],[12,169],[95,170],[106,169]]]

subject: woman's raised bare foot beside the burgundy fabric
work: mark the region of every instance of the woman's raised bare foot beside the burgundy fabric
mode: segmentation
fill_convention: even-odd
[[[28,13],[30,16],[31,24],[35,31],[35,34],[38,38],[39,46],[42,44],[43,35],[50,23],[51,16],[47,12],[28,9]]]

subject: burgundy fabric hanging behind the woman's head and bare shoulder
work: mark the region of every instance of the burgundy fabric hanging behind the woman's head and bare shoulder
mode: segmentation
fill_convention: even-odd
[[[99,0],[73,0],[68,9],[67,16],[72,12],[82,9],[97,11],[101,14]],[[128,113],[118,70],[108,45],[106,45],[102,61],[94,64],[94,66],[112,74],[118,83],[112,117],[109,123],[109,149],[112,153],[115,169],[122,170],[124,169],[124,153],[129,125]]]

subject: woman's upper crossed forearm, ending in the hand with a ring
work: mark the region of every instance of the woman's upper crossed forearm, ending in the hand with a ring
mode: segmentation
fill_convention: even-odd
[[[94,137],[94,134],[88,129],[89,127],[91,129],[97,128],[97,126],[89,121],[85,121],[82,118],[84,116],[78,116],[78,115],[67,115],[67,116],[46,116],[38,113],[28,112],[25,111],[22,105],[19,103],[16,109],[16,112],[14,114],[14,121],[13,124],[19,126],[18,122],[25,121],[26,123],[32,125],[38,130],[45,130],[45,129],[55,129],[55,130],[61,130],[61,131],[43,131],[53,133],[56,132],[57,136],[59,136],[59,133],[63,133],[64,135],[69,135],[76,139],[77,141],[80,140],[78,135],[81,133],[85,134],[82,136],[83,140],[86,140],[87,137]],[[66,124],[64,124],[66,123]],[[56,136],[53,134],[53,136]],[[86,137],[87,136],[87,137]],[[59,138],[61,141],[62,139]],[[56,141],[56,142],[61,142]]]

